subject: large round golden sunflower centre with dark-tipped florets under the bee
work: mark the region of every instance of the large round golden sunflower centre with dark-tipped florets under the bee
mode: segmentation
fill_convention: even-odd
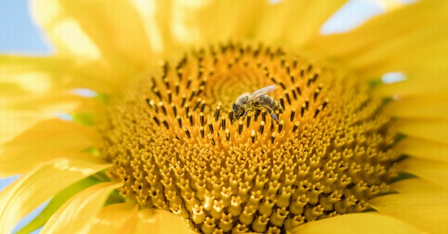
[[[270,103],[240,103],[237,120],[241,94],[270,85]],[[164,62],[112,101],[100,151],[142,208],[203,233],[284,233],[388,192],[399,155],[381,106],[331,65],[230,43]]]

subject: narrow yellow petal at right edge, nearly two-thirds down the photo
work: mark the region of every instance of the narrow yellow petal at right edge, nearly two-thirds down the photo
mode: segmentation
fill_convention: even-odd
[[[424,160],[437,160],[448,163],[448,145],[432,141],[404,138],[397,143],[400,152]]]

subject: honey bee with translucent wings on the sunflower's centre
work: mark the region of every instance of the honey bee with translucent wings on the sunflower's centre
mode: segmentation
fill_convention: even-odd
[[[278,87],[274,84],[258,89],[252,94],[241,94],[241,96],[238,97],[235,103],[232,104],[233,116],[235,117],[235,119],[238,120],[241,118],[241,116],[242,118],[245,118],[247,116],[247,113],[255,110],[261,111],[262,108],[265,108],[267,113],[270,113],[272,119],[274,121],[278,121],[279,119],[277,118],[275,111],[278,110],[280,113],[282,113],[282,107],[277,101],[275,101],[275,99],[267,96],[267,94],[275,91],[276,89],[278,89]]]

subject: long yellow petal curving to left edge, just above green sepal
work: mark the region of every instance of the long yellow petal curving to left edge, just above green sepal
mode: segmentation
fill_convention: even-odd
[[[23,175],[0,193],[0,233],[11,233],[14,225],[65,187],[110,165],[100,160],[59,158]]]

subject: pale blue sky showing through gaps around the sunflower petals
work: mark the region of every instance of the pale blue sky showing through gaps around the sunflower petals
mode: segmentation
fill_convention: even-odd
[[[9,55],[51,55],[53,47],[48,38],[30,14],[30,0],[0,0],[0,54]],[[270,0],[272,4],[279,0]],[[321,33],[338,33],[351,30],[371,16],[381,13],[380,6],[373,0],[351,0],[343,9],[334,14],[321,28]],[[0,179],[0,191],[18,176]],[[20,230],[40,213],[45,204],[23,218],[15,231]],[[38,233],[37,230],[35,233]]]

